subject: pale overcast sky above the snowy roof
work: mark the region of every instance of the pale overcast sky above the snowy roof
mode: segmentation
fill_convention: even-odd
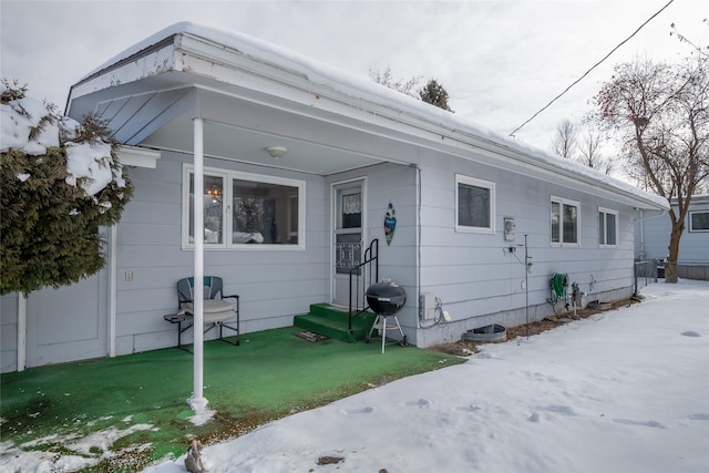
[[[8,1],[0,0],[0,75],[63,109],[88,72],[178,21],[238,31],[368,76],[436,79],[459,116],[508,134],[669,0],[558,1]],[[709,2],[675,0],[594,72],[516,133],[549,150],[580,120],[613,65],[679,61],[709,43]]]

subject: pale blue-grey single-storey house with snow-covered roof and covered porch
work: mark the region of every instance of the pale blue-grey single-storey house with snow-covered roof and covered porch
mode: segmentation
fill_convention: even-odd
[[[163,316],[197,257],[240,295],[244,333],[291,326],[312,304],[347,307],[373,241],[379,278],[407,292],[408,341],[459,340],[564,310],[555,275],[587,300],[629,296],[634,220],[668,208],[367,79],[191,23],[73,85],[66,114],[92,112],[124,145],[134,197],[106,229],[103,271],[2,298],[2,371],[175,346]]]

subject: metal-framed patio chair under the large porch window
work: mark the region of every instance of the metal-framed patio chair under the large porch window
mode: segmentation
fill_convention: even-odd
[[[177,347],[187,350],[182,345],[182,335],[194,326],[194,278],[185,278],[177,281],[178,311],[176,315],[165,316],[165,320],[177,323]],[[239,345],[239,296],[224,295],[224,282],[216,276],[204,277],[204,307],[203,323],[206,327],[204,333],[215,327],[219,328],[219,340],[235,346]],[[224,299],[234,299],[229,302]],[[236,327],[226,321],[236,318]],[[183,323],[187,323],[183,327]],[[236,332],[236,341],[224,338],[224,329],[227,328]]]

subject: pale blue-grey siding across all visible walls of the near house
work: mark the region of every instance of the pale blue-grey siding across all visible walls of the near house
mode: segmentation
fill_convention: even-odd
[[[568,274],[569,286],[578,282],[588,300],[613,300],[631,294],[634,240],[629,206],[579,192],[573,183],[559,185],[452,156],[421,153],[419,168],[379,164],[328,177],[207,160],[205,164],[210,167],[306,182],[305,250],[265,247],[205,251],[205,275],[220,276],[226,294],[240,295],[244,332],[289,326],[292,316],[307,312],[310,304],[329,300],[330,185],[358,177],[367,177],[364,241],[379,239],[380,278],[394,280],[407,291],[408,300],[399,320],[412,343],[430,346],[456,340],[471,328],[493,322],[515,326],[523,323],[527,313],[532,320],[553,313],[547,299],[554,273]],[[189,160],[188,155],[164,153],[157,168],[130,171],[135,195],[117,228],[117,354],[172,347],[176,342],[176,327],[164,321],[163,315],[176,310],[176,281],[193,271],[193,251],[183,250],[181,240],[182,169]],[[494,183],[494,234],[455,232],[455,174]],[[578,247],[552,246],[552,196],[579,203]],[[388,246],[383,219],[389,203],[395,209],[397,228]],[[599,247],[599,207],[618,212],[617,247]],[[505,217],[515,220],[514,241],[504,240]],[[533,263],[528,274],[528,309],[523,286],[525,267],[521,263],[525,234]],[[515,248],[514,254],[510,247]],[[132,271],[132,281],[125,280],[126,271]],[[94,288],[93,294],[86,294],[86,300],[94,300],[95,292]],[[422,292],[436,295],[453,322],[434,327],[421,322]],[[35,302],[32,310],[52,313],[51,298],[38,300],[42,302]],[[16,308],[16,297],[2,298],[3,371],[17,364]],[[69,317],[62,322],[80,321]],[[32,362],[86,357],[71,343],[63,347],[58,343],[55,350],[55,359]]]

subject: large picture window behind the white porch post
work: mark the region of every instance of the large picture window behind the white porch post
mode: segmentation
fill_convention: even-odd
[[[183,247],[194,247],[194,171],[185,166]],[[305,183],[205,169],[204,247],[305,247]]]

